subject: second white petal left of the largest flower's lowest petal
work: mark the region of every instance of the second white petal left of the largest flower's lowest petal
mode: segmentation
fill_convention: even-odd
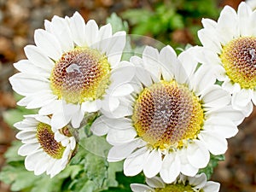
[[[142,172],[148,154],[149,150],[147,148],[140,148],[135,153],[130,154],[124,162],[125,176],[135,176]]]

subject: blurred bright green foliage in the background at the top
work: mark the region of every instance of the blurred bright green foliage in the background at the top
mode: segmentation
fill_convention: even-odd
[[[129,9],[122,14],[132,26],[132,34],[151,35],[164,44],[184,46],[173,42],[172,34],[186,29],[192,42],[199,44],[197,31],[201,28],[201,17],[216,19],[219,14],[214,0],[170,0],[156,1],[150,7]]]

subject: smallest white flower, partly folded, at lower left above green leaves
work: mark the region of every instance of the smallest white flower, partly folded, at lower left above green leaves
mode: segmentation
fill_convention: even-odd
[[[54,177],[67,166],[76,141],[67,126],[53,131],[49,124],[48,116],[26,115],[15,127],[20,130],[16,137],[24,143],[18,154],[26,156],[26,169]]]

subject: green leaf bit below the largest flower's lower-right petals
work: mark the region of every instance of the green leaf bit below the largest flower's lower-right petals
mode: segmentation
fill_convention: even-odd
[[[218,161],[224,160],[224,154],[220,154],[220,155],[213,155],[211,154],[211,159],[207,165],[207,167],[200,169],[199,173],[204,172],[207,175],[207,179],[210,179],[212,176],[212,173],[214,171],[214,168],[216,166],[218,166]]]

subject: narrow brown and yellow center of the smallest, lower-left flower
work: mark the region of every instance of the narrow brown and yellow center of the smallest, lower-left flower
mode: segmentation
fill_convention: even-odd
[[[55,141],[55,133],[51,131],[50,125],[39,123],[37,128],[38,142],[44,152],[54,159],[61,159],[65,148]]]

